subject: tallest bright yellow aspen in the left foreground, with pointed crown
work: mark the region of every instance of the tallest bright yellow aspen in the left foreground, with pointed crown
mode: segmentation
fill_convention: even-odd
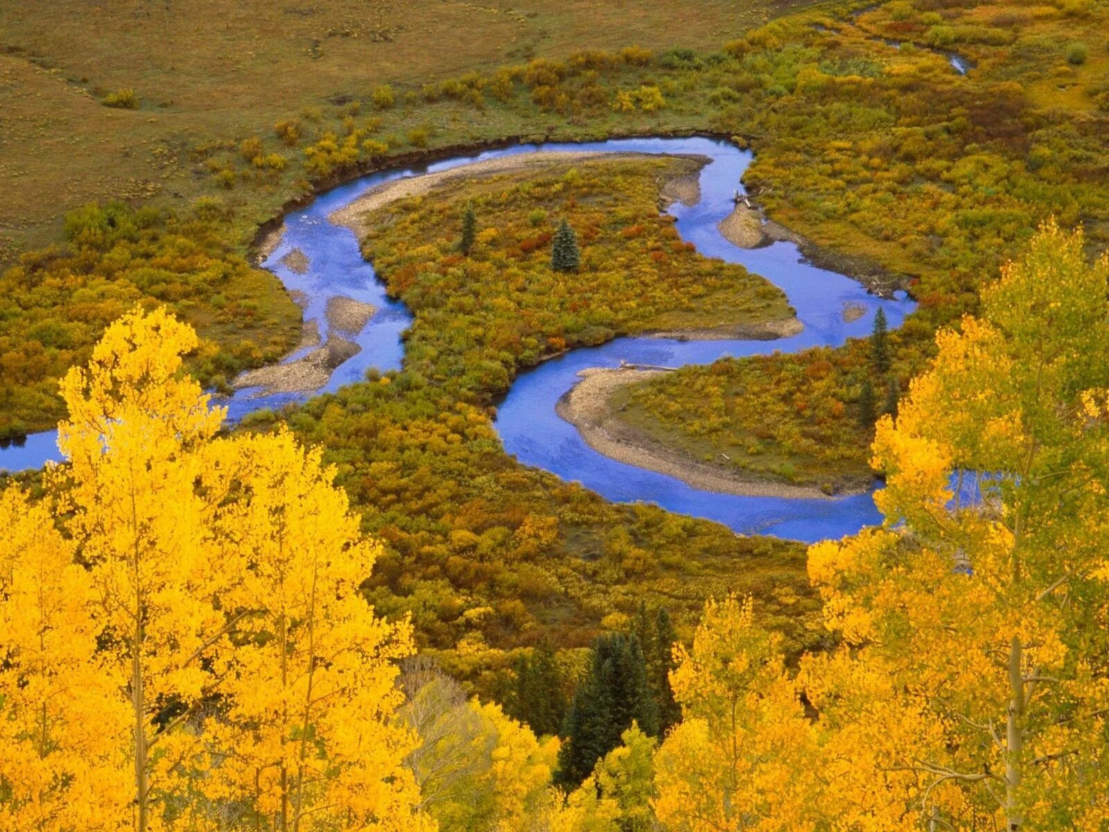
[[[228,629],[213,601],[238,572],[213,545],[217,497],[194,487],[196,451],[224,415],[181,373],[195,346],[195,333],[164,310],[136,311],[61,385],[70,418],[58,444],[69,466],[55,469],[53,490],[89,565],[96,659],[131,708],[139,832],[159,828],[174,788],[166,778],[195,752],[195,735],[173,728],[212,692],[203,664],[226,647]]]

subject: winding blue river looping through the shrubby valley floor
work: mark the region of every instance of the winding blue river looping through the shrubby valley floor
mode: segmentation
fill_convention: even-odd
[[[263,263],[291,292],[303,293],[306,298],[305,321],[316,322],[324,341],[328,336],[325,310],[330,297],[352,297],[377,307],[354,338],[362,351],[342,364],[321,392],[359,382],[370,368],[383,372],[398,369],[404,359],[400,335],[411,324],[407,307],[388,297],[373,265],[363,260],[355,234],[330,223],[328,215],[384,182],[536,151],[630,151],[708,156],[711,161],[701,171],[700,202],[693,206],[675,203],[669,209],[676,217],[679,233],[705,256],[739,263],[779,286],[804,324],[804,331],[777,341],[633,337],[573,349],[520,374],[512,384],[496,418],[506,451],[526,465],[546,468],[567,480],[580,481],[608,499],[655,503],[672,511],[720,521],[742,534],[813,541],[853,534],[878,522],[881,517],[871,494],[797,499],[742,497],[692,488],[674,477],[625,465],[599,454],[554,412],[558,399],[579,381],[578,373],[589,367],[615,367],[622,361],[668,366],[709,364],[724,356],[796,352],[817,345],[837,346],[848,337],[868,334],[879,306],[885,310],[892,327],[899,326],[904,316],[913,311],[913,302],[902,293],[894,300],[883,300],[849,277],[806,263],[792,243],[776,242],[761,248],[743,250],[724,240],[716,225],[732,211],[733,193],[743,192],[740,177],[752,159],[750,152],[728,142],[698,136],[513,145],[374,173],[322,194],[305,209],[286,217],[279,244]],[[308,260],[309,265],[303,274],[282,262],[294,250],[303,252]],[[588,275],[582,275],[582,278],[584,283]],[[848,305],[865,312],[861,317],[846,322],[844,310]],[[286,361],[296,357],[293,355]],[[257,395],[257,390],[243,389],[217,400],[217,404],[227,407],[230,422],[236,422],[252,410],[279,407],[303,398],[304,395],[297,394],[263,396]],[[39,467],[48,459],[59,458],[55,432],[33,434],[21,444],[0,448],[0,468],[8,470]]]

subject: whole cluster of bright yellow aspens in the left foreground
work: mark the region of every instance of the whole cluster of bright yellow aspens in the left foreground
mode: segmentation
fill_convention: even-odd
[[[215,438],[195,345],[109,327],[62,383],[68,465],[0,503],[0,828],[430,832],[377,545],[318,451]]]

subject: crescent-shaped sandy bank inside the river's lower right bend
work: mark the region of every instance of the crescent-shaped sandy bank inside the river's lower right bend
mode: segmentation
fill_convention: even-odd
[[[609,406],[612,394],[627,384],[634,384],[662,372],[664,371],[599,367],[583,369],[578,374],[582,381],[559,399],[556,410],[578,428],[578,433],[593,450],[617,461],[676,477],[694,488],[742,497],[832,499],[815,486],[771,483],[691,459],[620,423]],[[853,493],[855,491],[843,494]]]

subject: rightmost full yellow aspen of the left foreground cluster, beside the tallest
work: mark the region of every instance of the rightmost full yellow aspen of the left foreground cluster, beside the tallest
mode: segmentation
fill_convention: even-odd
[[[224,495],[221,560],[247,564],[221,596],[240,643],[216,686],[231,704],[204,722],[208,791],[281,830],[434,829],[399,765],[416,735],[390,719],[411,628],[376,618],[358,591],[379,544],[362,539],[319,450],[287,430],[206,450],[202,488]]]

